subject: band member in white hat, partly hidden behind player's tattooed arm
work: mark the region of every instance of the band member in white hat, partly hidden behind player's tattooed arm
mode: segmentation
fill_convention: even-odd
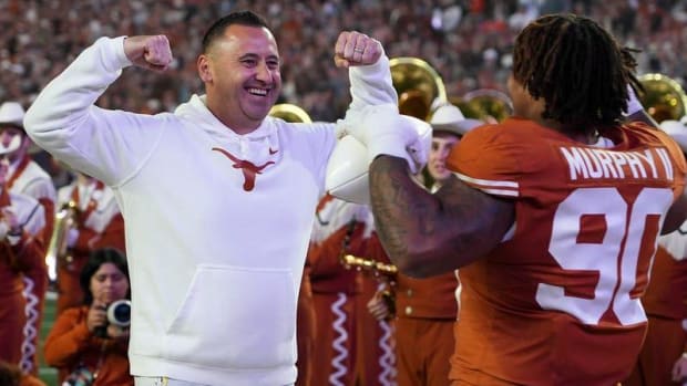
[[[432,146],[427,167],[418,181],[437,191],[451,177],[447,158],[460,138],[481,124],[465,119],[460,108],[439,106],[430,119]],[[413,279],[402,273],[396,277],[391,291],[396,315],[386,299],[378,293],[369,303],[370,313],[380,320],[396,316],[396,357],[399,386],[444,386],[449,382],[450,357],[455,340],[453,323],[458,319],[460,281],[458,271],[428,279]],[[418,350],[423,347],[423,350]]]

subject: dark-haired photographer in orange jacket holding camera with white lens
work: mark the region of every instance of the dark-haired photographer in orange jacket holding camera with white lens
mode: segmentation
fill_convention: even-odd
[[[110,310],[130,299],[129,269],[116,249],[95,250],[81,271],[84,304],[64,311],[45,341],[45,362],[60,369],[60,385],[129,385],[129,320]],[[123,306],[120,311],[126,311]],[[119,316],[119,322],[113,320]]]

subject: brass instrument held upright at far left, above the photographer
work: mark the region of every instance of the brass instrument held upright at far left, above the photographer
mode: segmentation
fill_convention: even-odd
[[[69,231],[75,225],[76,202],[70,200],[55,215],[54,228],[45,251],[45,263],[49,267],[50,280],[57,279],[57,267],[69,265],[73,258],[68,253],[66,241]]]

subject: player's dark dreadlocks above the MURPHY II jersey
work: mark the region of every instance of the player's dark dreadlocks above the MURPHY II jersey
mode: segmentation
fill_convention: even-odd
[[[515,40],[513,76],[532,96],[544,98],[544,118],[588,131],[622,121],[627,84],[642,88],[635,52],[588,18],[548,14]]]

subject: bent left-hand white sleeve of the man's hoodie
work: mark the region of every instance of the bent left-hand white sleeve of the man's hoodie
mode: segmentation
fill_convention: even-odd
[[[133,175],[160,139],[164,119],[94,106],[129,65],[123,36],[99,39],[41,91],[24,117],[27,134],[107,185]]]

